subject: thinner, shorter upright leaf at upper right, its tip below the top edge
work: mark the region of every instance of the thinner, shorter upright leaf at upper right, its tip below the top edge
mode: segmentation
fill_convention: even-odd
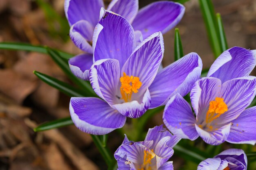
[[[225,35],[224,26],[223,26],[223,23],[222,23],[222,18],[220,16],[220,13],[216,14],[216,18],[217,18],[218,30],[219,30],[219,33],[220,33],[221,51],[223,52],[223,51],[228,49],[228,46],[227,46],[226,35]]]

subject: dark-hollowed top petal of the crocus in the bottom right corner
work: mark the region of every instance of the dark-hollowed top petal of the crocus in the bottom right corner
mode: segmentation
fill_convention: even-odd
[[[231,162],[233,162],[233,160],[230,159],[230,157],[238,160],[245,167],[247,167],[247,157],[245,155],[245,152],[242,149],[227,149],[215,156],[215,158],[220,158],[222,160],[227,159],[228,161],[231,160]]]

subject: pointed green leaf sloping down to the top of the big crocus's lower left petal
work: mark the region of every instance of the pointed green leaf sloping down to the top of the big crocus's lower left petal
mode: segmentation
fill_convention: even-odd
[[[41,79],[46,84],[49,84],[50,86],[58,89],[59,91],[65,93],[66,95],[70,97],[85,97],[86,93],[83,91],[79,91],[70,84],[67,84],[65,82],[62,82],[54,77],[51,77],[49,75],[40,73],[38,71],[33,72],[39,79]]]

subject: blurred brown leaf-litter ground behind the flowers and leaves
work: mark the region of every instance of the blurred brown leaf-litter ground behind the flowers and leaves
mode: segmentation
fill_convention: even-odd
[[[139,7],[153,1],[139,0]],[[105,2],[107,5],[110,0]],[[70,41],[63,4],[64,0],[0,0],[0,42],[27,42],[81,53]],[[256,49],[256,0],[213,0],[213,4],[222,15],[228,46]],[[198,53],[203,68],[209,68],[214,57],[198,0],[190,0],[184,6],[185,15],[177,25],[184,54]],[[164,35],[164,43],[163,65],[167,66],[174,61],[174,29]],[[68,117],[70,100],[40,81],[34,70],[71,83],[48,55],[0,50],[0,170],[106,170],[90,135],[75,126],[33,132],[34,127],[46,121]],[[146,128],[159,124],[162,113],[155,115]],[[109,135],[112,152],[122,140],[117,132]],[[201,139],[195,142],[199,147],[204,145]],[[219,151],[230,147],[225,143]],[[246,147],[256,151],[255,147]],[[197,167],[175,154],[171,160],[175,170]]]

